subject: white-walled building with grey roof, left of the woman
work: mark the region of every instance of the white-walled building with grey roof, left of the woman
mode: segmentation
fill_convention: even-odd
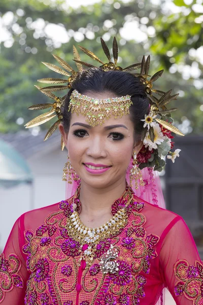
[[[0,253],[16,219],[27,210],[54,204],[65,199],[65,181],[62,181],[67,150],[60,149],[57,130],[47,140],[46,132],[33,136],[27,131],[1,134],[26,160],[33,174],[33,184],[12,188],[0,187]],[[1,170],[1,169],[0,169]]]

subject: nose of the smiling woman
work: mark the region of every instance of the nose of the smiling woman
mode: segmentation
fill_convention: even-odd
[[[89,141],[86,154],[94,159],[106,158],[107,151],[104,141],[99,136],[93,137],[91,141]]]

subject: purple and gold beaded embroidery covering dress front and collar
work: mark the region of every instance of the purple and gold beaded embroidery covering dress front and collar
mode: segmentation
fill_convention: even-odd
[[[112,215],[124,208],[127,201],[125,192],[112,205]],[[80,213],[80,200],[75,196],[61,201],[59,210],[48,215],[35,232],[25,232],[27,243],[23,252],[27,254],[27,269],[31,273],[25,305],[138,304],[145,296],[146,284],[146,278],[140,272],[149,273],[150,260],[157,256],[153,248],[159,240],[154,234],[146,234],[143,208],[144,203],[130,201],[126,207],[125,227],[119,234],[112,233],[99,240],[92,263],[85,268],[85,261],[80,258],[88,245],[75,240],[66,228],[67,218],[73,211]],[[108,253],[112,254],[111,249],[115,253],[112,259],[115,268],[104,260]]]

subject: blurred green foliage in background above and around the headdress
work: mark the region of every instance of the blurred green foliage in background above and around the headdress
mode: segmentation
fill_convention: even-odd
[[[27,110],[27,107],[50,102],[50,99],[41,94],[33,84],[39,84],[37,83],[39,78],[60,76],[47,69],[41,64],[42,61],[56,64],[52,57],[52,53],[55,53],[76,68],[72,61],[73,44],[76,46],[81,44],[93,51],[101,60],[105,60],[99,37],[103,37],[111,48],[113,37],[116,36],[119,56],[122,58],[122,63],[119,65],[125,67],[137,63],[143,54],[150,53],[152,55],[150,74],[160,69],[165,70],[155,87],[161,90],[173,88],[173,94],[181,93],[178,102],[171,103],[171,107],[176,104],[179,108],[173,117],[179,124],[188,119],[193,133],[201,133],[203,131],[203,113],[200,110],[200,105],[203,104],[202,90],[200,90],[203,87],[202,76],[189,75],[184,79],[182,73],[186,66],[190,69],[194,63],[197,72],[202,72],[202,62],[200,63],[195,55],[195,50],[202,46],[203,27],[199,20],[203,13],[193,10],[196,1],[186,5],[183,0],[174,0],[172,4],[179,7],[180,12],[170,14],[162,9],[164,3],[165,1],[162,1],[160,5],[154,5],[150,0],[145,2],[103,0],[74,10],[65,5],[63,0],[50,1],[50,3],[49,0],[1,0],[0,16],[4,18],[8,12],[14,13],[12,22],[5,25],[14,41],[11,47],[5,47],[3,42],[0,45],[0,132],[17,132],[24,129],[23,125],[38,114],[37,111],[34,113]],[[44,22],[44,25],[41,26],[40,31],[37,31],[34,24],[39,20],[41,24]],[[112,21],[110,27],[105,25],[106,20]],[[132,22],[133,25],[133,21],[148,34],[148,41],[126,42],[121,37],[120,30],[126,22]],[[69,35],[69,42],[60,45],[47,37],[45,27],[49,23],[63,26]],[[153,28],[155,33],[150,34],[148,29],[153,30]],[[135,37],[136,30],[137,27],[134,29],[132,27]],[[95,36],[94,39],[89,39],[92,38],[88,35],[90,32],[93,33],[92,37]],[[84,41],[77,42],[78,33],[83,34]],[[108,35],[111,36],[110,40]],[[189,52],[191,49],[194,50],[192,53]],[[85,54],[81,54],[81,58],[96,65],[96,62],[87,58]],[[197,84],[196,87],[194,84]],[[40,111],[39,114],[41,113]],[[19,117],[24,118],[24,124],[16,123]],[[53,123],[44,124],[41,128],[47,129],[50,124]]]

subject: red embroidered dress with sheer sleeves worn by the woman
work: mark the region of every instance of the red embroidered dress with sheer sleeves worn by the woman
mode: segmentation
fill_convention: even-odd
[[[125,193],[124,193],[125,195]],[[112,205],[112,216],[125,196]],[[87,245],[70,237],[67,220],[81,203],[74,197],[23,214],[0,256],[3,305],[153,305],[164,287],[177,304],[203,304],[203,265],[184,220],[135,195],[125,226],[99,241],[90,266]],[[116,249],[113,273],[104,273]],[[81,260],[82,258],[82,260]]]

